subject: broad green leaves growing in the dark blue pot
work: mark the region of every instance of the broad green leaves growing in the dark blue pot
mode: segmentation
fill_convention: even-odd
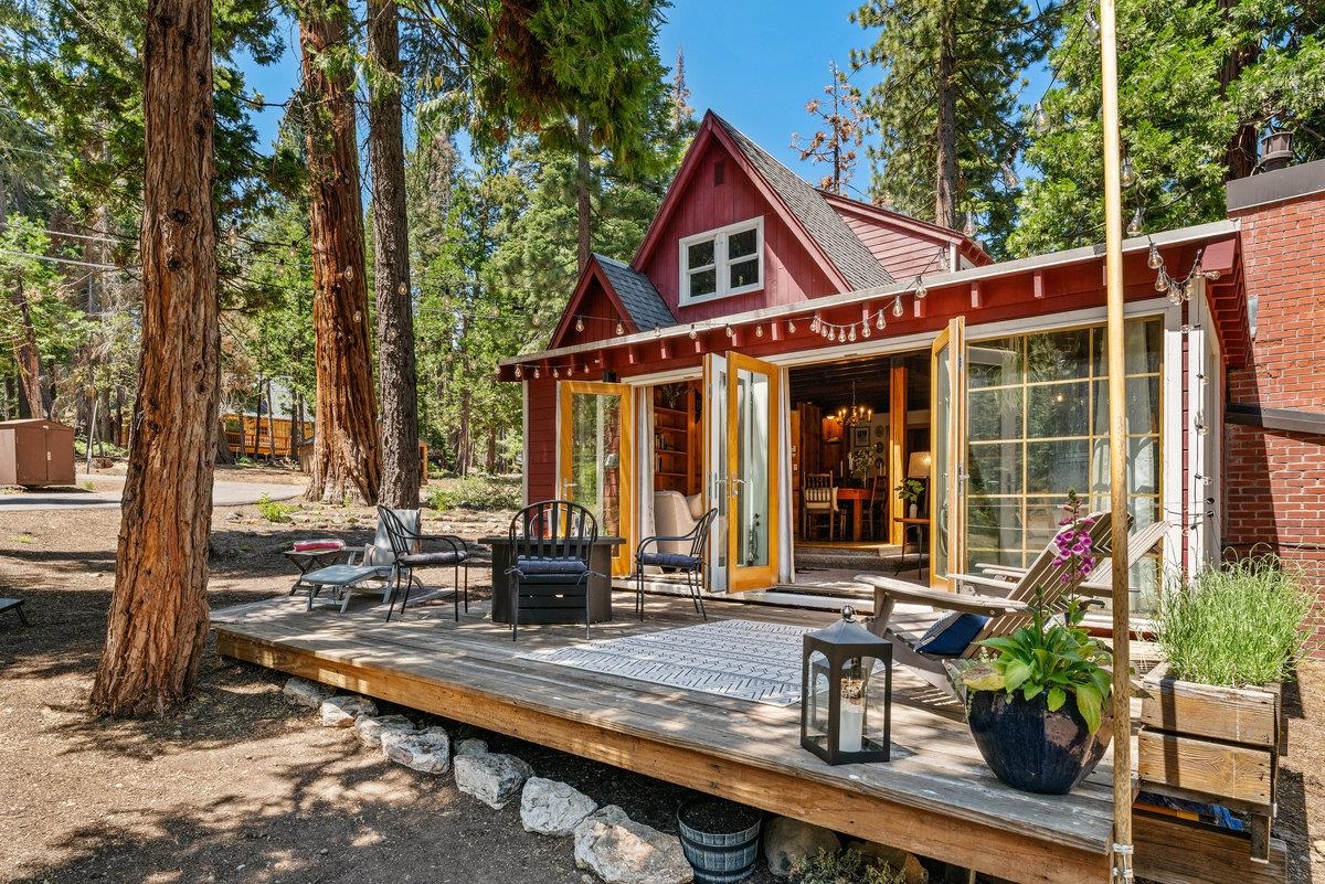
[[[1047,693],[1051,712],[1063,708],[1068,695],[1073,695],[1077,712],[1094,733],[1113,688],[1112,675],[1105,668],[1113,656],[1081,629],[1081,617],[1076,599],[1068,605],[1063,622],[1036,607],[1031,625],[1012,635],[980,642],[996,655],[963,671],[966,687],[1006,691],[1008,696],[1020,693],[1026,700]]]

